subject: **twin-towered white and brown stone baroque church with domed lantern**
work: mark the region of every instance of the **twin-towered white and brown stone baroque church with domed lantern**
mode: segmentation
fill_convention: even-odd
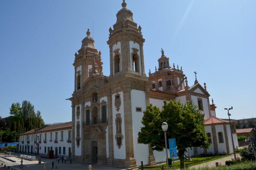
[[[72,102],[73,159],[125,168],[136,168],[141,161],[144,165],[165,162],[165,150],[152,151],[138,141],[146,105],[152,103],[161,108],[163,100],[194,101],[205,114],[206,131],[213,144],[209,149],[192,148],[191,155],[232,153],[229,124],[210,122],[216,118],[216,106],[213,101],[210,104],[206,85],[202,87],[196,80],[189,87],[182,68],[171,66],[163,50],[158,68],[147,77],[143,56],[145,39],[124,0],[116,17],[107,41],[109,76],[103,75],[101,52],[95,48],[89,29],[81,49],[75,53],[74,92],[68,99]],[[232,134],[236,137],[235,131]]]

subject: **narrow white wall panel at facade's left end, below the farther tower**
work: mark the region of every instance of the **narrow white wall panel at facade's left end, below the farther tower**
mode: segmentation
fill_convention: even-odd
[[[79,109],[80,109],[80,116],[79,116],[79,119],[76,118],[77,106],[79,106]],[[75,155],[76,155],[76,156],[81,156],[81,155],[82,155],[82,149],[81,149],[81,148],[82,148],[82,144],[81,144],[81,143],[82,143],[83,138],[82,138],[81,113],[82,113],[82,105],[81,105],[81,104],[80,104],[80,105],[76,105],[76,106],[75,106],[75,130],[74,130],[74,132],[75,132],[75,138],[76,138],[76,123],[79,121],[79,122],[80,122],[79,136],[80,136],[80,138],[81,138],[79,148],[77,148],[76,141],[72,141],[72,142],[75,142]]]

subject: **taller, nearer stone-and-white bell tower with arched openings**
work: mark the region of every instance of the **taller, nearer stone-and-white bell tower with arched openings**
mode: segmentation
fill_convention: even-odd
[[[116,14],[113,30],[109,29],[110,78],[120,74],[146,77],[144,69],[143,43],[141,27],[133,21],[133,14],[126,8],[125,0],[122,9]]]

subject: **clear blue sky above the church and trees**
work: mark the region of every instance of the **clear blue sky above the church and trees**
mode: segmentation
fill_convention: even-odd
[[[110,74],[109,28],[122,0],[1,0],[0,116],[11,104],[30,101],[45,123],[71,121],[74,53],[89,28],[102,53],[103,73]],[[206,83],[216,116],[255,115],[255,0],[126,0],[145,38],[148,75],[161,56],[182,66],[192,86]],[[94,29],[93,29],[94,27]],[[113,28],[113,27],[112,27]]]

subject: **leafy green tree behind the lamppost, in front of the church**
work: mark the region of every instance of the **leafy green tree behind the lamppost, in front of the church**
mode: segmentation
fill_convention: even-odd
[[[176,138],[177,156],[180,158],[181,168],[184,168],[184,155],[187,148],[208,148],[210,143],[204,129],[204,115],[191,102],[184,105],[180,101],[165,100],[162,111],[152,104],[146,106],[142,118],[143,127],[138,133],[139,140],[144,144],[150,144],[152,150],[165,148],[164,132],[161,129],[162,122],[167,122],[167,139]]]

